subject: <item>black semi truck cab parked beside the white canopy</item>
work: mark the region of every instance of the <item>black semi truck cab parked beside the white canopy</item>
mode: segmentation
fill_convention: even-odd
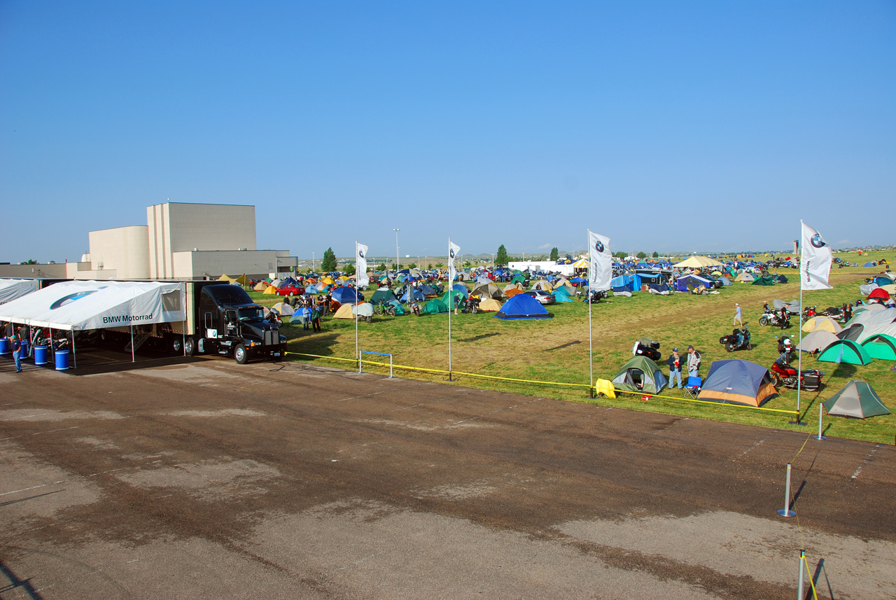
[[[233,356],[239,364],[252,358],[279,360],[286,354],[286,336],[242,287],[189,281],[186,308],[185,322],[170,323],[170,347],[177,354]]]

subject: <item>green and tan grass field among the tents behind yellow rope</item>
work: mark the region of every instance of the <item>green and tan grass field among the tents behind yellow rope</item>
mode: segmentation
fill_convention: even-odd
[[[870,258],[855,254],[839,255],[844,260],[859,264],[879,258],[893,261],[892,253],[873,253]],[[831,271],[833,289],[806,292],[804,304],[817,305],[822,309],[855,301],[859,297],[859,284],[864,283],[866,277],[880,271],[881,268],[835,267]],[[592,307],[595,380],[612,379],[622,364],[632,356],[634,340],[642,336],[659,340],[663,353],[660,367],[664,369],[665,359],[672,348],[678,347],[684,353],[688,344],[693,344],[701,351],[701,373],[704,376],[712,361],[726,358],[743,358],[770,366],[778,356],[775,338],[780,335],[780,330],[759,325],[762,303],[768,301],[771,304],[774,298],[791,300],[799,297],[799,284],[795,282],[797,270],[780,272],[787,275],[793,283],[774,287],[736,283],[719,290],[719,295],[710,296],[673,294],[666,297],[640,293],[631,298],[611,297],[608,301],[595,304]],[[256,301],[268,305],[279,300],[276,296],[263,296],[257,292],[252,293],[252,296]],[[753,333],[754,348],[752,351],[742,350],[728,354],[719,344],[719,336],[730,333],[735,303],[740,303],[743,308],[745,324],[749,325]],[[452,371],[587,386],[590,381],[588,304],[553,304],[548,310],[554,314],[553,319],[502,321],[495,319],[494,313],[452,314]],[[792,323],[787,332],[796,340],[797,319]],[[347,359],[355,356],[354,321],[327,317],[323,320],[323,331],[320,333],[291,325],[285,326],[283,332],[289,337],[290,352]],[[448,369],[446,314],[424,315],[419,318],[413,315],[374,316],[372,323],[360,323],[358,339],[362,350],[392,353],[395,364]],[[344,365],[346,368],[354,366],[351,363],[331,364]],[[884,404],[896,412],[896,371],[891,371],[892,367],[893,364],[879,360],[867,366],[816,363],[813,358],[804,356],[803,368],[817,368],[825,373],[825,386],[821,391],[801,394],[800,414],[801,420],[807,423],[806,426],[788,424],[793,418],[791,415],[687,401],[681,390],[664,390],[663,395],[676,399],[654,397],[643,401],[640,396],[627,395],[617,399],[590,399],[587,387],[495,381],[463,375],[455,375],[453,379],[457,384],[468,387],[817,433],[819,402],[829,398],[851,379],[869,381]],[[365,370],[379,373],[387,371],[375,366],[365,366]],[[399,370],[396,374],[428,381],[446,381],[445,375],[436,373]],[[797,391],[781,389],[780,396],[771,399],[763,407],[795,410]],[[823,421],[825,435],[887,443],[894,439],[894,425],[896,416],[873,417],[865,421],[825,416]]]

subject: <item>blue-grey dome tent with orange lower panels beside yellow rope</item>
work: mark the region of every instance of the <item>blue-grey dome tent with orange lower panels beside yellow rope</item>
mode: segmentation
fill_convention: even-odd
[[[761,364],[736,358],[712,363],[697,399],[761,407],[763,402],[777,393],[778,390],[771,384],[768,369]]]

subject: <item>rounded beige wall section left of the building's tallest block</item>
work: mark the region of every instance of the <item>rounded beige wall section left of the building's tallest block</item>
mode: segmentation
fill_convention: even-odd
[[[104,279],[149,279],[149,227],[134,225],[100,229],[91,231],[88,236],[91,270],[115,271]]]

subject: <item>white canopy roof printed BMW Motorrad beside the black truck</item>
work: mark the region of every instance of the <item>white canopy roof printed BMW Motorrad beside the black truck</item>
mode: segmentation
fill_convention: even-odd
[[[185,321],[186,286],[159,281],[64,281],[0,305],[0,321],[98,330]]]

